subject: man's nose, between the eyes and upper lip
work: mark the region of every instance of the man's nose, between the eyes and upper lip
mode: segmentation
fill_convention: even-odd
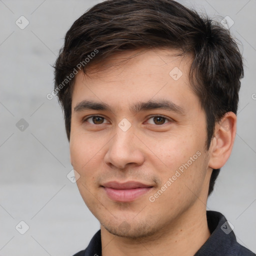
[[[111,167],[125,169],[128,164],[141,165],[144,162],[142,143],[130,128],[127,131],[116,127],[116,133],[107,143],[104,162]]]

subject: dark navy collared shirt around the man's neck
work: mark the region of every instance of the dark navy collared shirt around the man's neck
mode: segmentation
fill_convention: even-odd
[[[207,211],[207,222],[210,230],[210,237],[194,254],[194,256],[255,256],[236,241],[234,232],[226,218],[217,211]],[[73,256],[101,256],[101,237],[98,230],[88,247],[77,252]]]

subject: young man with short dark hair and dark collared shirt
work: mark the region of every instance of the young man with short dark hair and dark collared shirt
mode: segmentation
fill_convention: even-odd
[[[100,222],[75,255],[254,255],[206,211],[236,131],[242,57],[228,30],[172,0],[110,0],[55,63],[70,159]]]

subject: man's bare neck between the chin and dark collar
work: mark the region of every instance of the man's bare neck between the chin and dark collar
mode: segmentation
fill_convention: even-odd
[[[120,237],[109,233],[101,225],[102,256],[144,256],[149,254],[154,256],[192,256],[209,236],[205,206],[193,205],[189,210],[172,220],[171,223],[166,224],[164,230],[158,230],[150,237],[136,240]]]

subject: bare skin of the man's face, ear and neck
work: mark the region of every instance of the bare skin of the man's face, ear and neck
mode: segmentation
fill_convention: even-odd
[[[215,125],[214,138],[205,150],[206,120],[199,98],[191,90],[189,56],[167,49],[124,51],[78,72],[72,92],[70,160],[77,171],[77,186],[89,210],[100,222],[102,255],[194,255],[208,239],[206,201],[212,168],[229,157],[235,135],[232,112]],[[108,64],[116,64],[103,68]],[[174,80],[169,72],[182,71]],[[96,72],[95,72],[96,71]],[[74,111],[82,100],[107,103],[109,110]],[[166,109],[131,112],[138,101],[171,100],[183,114]],[[101,116],[96,121],[88,117]],[[163,115],[166,119],[152,117]],[[127,131],[118,127],[126,118]],[[158,120],[158,121],[157,121]],[[200,152],[158,198],[154,195],[175,171]],[[130,202],[111,200],[101,186],[116,180],[153,186]],[[166,186],[166,185],[165,185]]]

